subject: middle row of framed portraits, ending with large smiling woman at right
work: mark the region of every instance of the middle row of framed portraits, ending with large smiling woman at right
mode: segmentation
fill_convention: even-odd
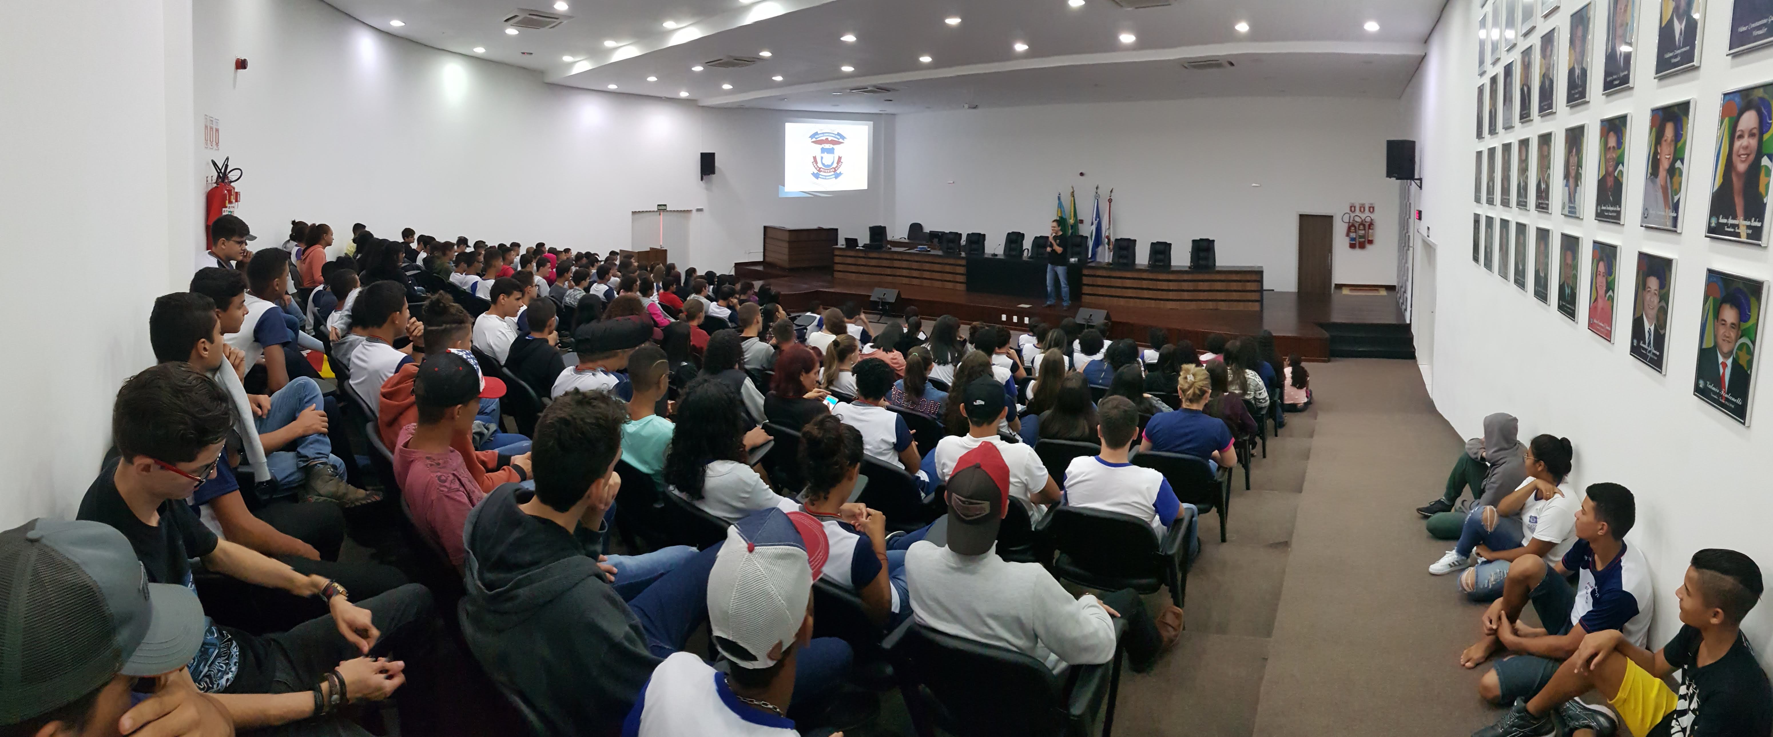
[[[1638,225],[1681,232],[1688,220],[1683,214],[1690,188],[1688,144],[1693,120],[1691,99],[1651,110],[1640,133],[1647,140],[1647,149]],[[1706,207],[1706,236],[1766,246],[1768,188],[1773,182],[1773,81],[1725,92],[1718,103],[1714,126],[1718,144],[1713,151],[1711,179],[1706,181],[1706,190],[1711,193]],[[1592,186],[1594,220],[1624,225],[1626,177],[1631,175],[1626,163],[1629,135],[1629,113],[1599,122],[1594,135],[1592,175],[1583,174],[1590,147],[1587,122],[1566,128],[1562,140],[1557,131],[1544,131],[1479,149],[1473,161],[1472,198],[1477,204],[1548,214],[1555,198],[1558,214],[1580,220],[1583,206],[1589,204],[1583,188]],[[1557,184],[1553,184],[1553,147],[1564,152]]]

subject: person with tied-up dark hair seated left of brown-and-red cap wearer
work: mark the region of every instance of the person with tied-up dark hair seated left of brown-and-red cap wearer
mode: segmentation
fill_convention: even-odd
[[[801,508],[824,524],[832,560],[824,579],[862,599],[876,625],[895,625],[910,613],[904,551],[886,549],[886,516],[851,503],[862,475],[862,432],[835,416],[810,422],[800,434],[800,466],[807,475]]]

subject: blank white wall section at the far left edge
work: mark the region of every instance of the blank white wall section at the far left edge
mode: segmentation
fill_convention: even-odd
[[[168,177],[199,136],[188,48],[186,0],[0,7],[4,250],[82,264],[78,289],[39,275],[7,291],[14,310],[55,319],[20,333],[0,368],[0,528],[74,516],[117,386],[152,363],[147,312],[179,271],[172,243],[197,243],[195,200]]]

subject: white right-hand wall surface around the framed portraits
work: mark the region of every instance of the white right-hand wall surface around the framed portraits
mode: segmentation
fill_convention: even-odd
[[[1566,0],[1553,16],[1560,44],[1569,28],[1567,14],[1578,5],[1582,4]],[[1644,14],[1638,19],[1638,48],[1649,50],[1654,46],[1652,14],[1658,4],[1640,5]],[[1729,5],[1711,7],[1714,11],[1706,21],[1700,71],[1654,80],[1649,55],[1640,53],[1635,89],[1601,96],[1599,66],[1594,66],[1596,89],[1587,106],[1567,110],[1560,103],[1557,115],[1525,129],[1516,128],[1505,138],[1562,131],[1576,122],[1585,122],[1592,138],[1599,119],[1629,112],[1626,220],[1635,221],[1644,197],[1647,136],[1642,126],[1649,110],[1691,97],[1699,124],[1691,126],[1688,174],[1700,181],[1709,177],[1720,92],[1773,76],[1773,50],[1725,55]],[[1753,411],[1757,422],[1745,429],[1702,404],[1691,392],[1691,356],[1699,345],[1699,298],[1706,269],[1718,268],[1753,278],[1769,278],[1773,269],[1764,248],[1704,237],[1700,218],[1707,200],[1702,188],[1688,193],[1684,207],[1690,221],[1684,234],[1603,225],[1592,218],[1576,221],[1530,216],[1534,225],[1582,234],[1585,248],[1592,237],[1621,244],[1621,264],[1636,264],[1640,248],[1677,257],[1668,374],[1660,376],[1628,354],[1635,266],[1621,268],[1615,324],[1622,333],[1617,342],[1608,344],[1585,326],[1564,319],[1553,306],[1472,264],[1472,213],[1502,214],[1500,207],[1472,202],[1472,152],[1491,142],[1486,138],[1479,144],[1473,138],[1473,92],[1479,81],[1477,51],[1472,48],[1477,35],[1473,12],[1473,0],[1447,4],[1429,41],[1429,57],[1404,97],[1404,115],[1422,151],[1422,225],[1440,244],[1433,344],[1418,342],[1417,351],[1433,351],[1434,404],[1463,434],[1477,436],[1488,413],[1514,413],[1521,418],[1523,438],[1551,432],[1574,443],[1576,485],[1606,480],[1635,493],[1638,517],[1628,542],[1640,546],[1656,572],[1658,617],[1652,640],[1660,645],[1679,629],[1674,590],[1693,551],[1734,547],[1753,556],[1773,578],[1773,539],[1766,535],[1766,521],[1773,519],[1773,494],[1768,493],[1768,478],[1773,477],[1769,399],[1753,397],[1761,404]],[[1560,96],[1562,87],[1560,80]],[[1590,161],[1592,156],[1590,144]],[[1592,163],[1589,170],[1592,172]],[[1514,220],[1519,211],[1509,213],[1509,220]],[[1766,365],[1757,368],[1764,372]],[[1762,602],[1750,613],[1746,631],[1762,657],[1773,652],[1773,604]]]

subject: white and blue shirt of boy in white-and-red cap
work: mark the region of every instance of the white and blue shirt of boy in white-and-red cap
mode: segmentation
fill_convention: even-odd
[[[745,702],[690,652],[674,652],[635,698],[622,737],[800,737],[794,721]]]

